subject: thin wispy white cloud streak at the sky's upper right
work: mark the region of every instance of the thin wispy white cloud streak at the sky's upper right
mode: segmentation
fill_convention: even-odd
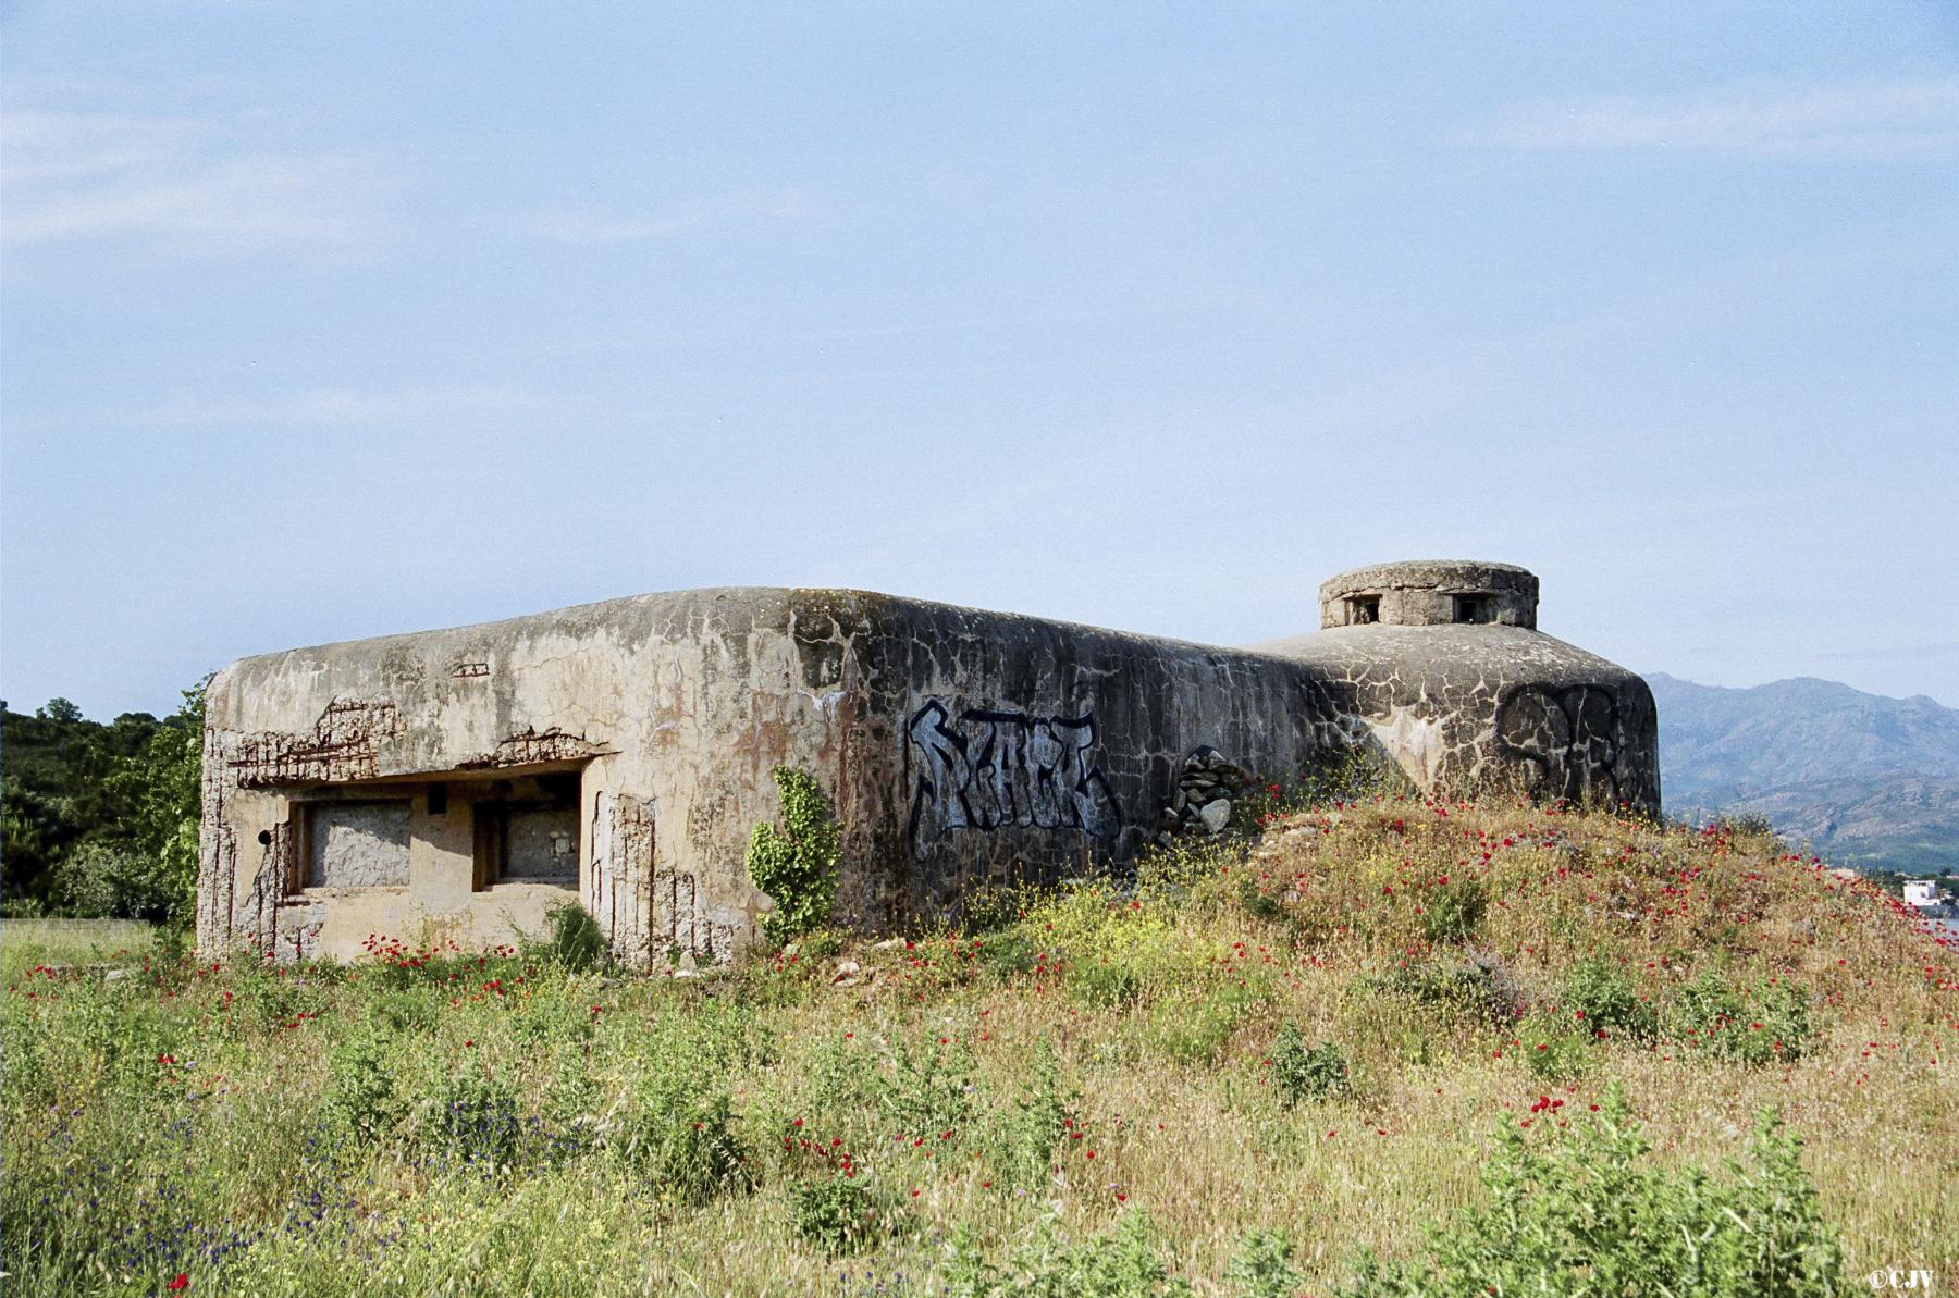
[[[1959,78],[1516,104],[1463,139],[1503,149],[1920,157],[1959,149]]]

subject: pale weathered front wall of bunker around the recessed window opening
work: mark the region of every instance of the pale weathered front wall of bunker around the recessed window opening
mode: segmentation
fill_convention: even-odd
[[[742,848],[776,811],[770,767],[836,769],[836,691],[803,658],[789,591],[690,591],[233,664],[206,703],[200,946],[315,950],[286,844],[319,787],[578,769],[576,895],[615,948],[723,959],[766,906]],[[472,887],[462,859],[374,930],[541,914],[531,885]]]

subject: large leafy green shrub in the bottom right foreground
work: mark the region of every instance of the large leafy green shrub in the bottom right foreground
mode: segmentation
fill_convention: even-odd
[[[1726,1179],[1644,1161],[1648,1141],[1618,1089],[1601,1114],[1550,1143],[1505,1126],[1483,1173],[1489,1202],[1424,1255],[1362,1259],[1352,1298],[1428,1294],[1673,1294],[1824,1298],[1843,1292],[1843,1257],[1773,1114],[1755,1128],[1753,1169]]]

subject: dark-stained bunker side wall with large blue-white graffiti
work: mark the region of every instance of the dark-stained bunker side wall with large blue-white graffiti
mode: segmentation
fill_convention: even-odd
[[[1371,744],[1340,687],[1281,658],[917,601],[831,615],[852,626],[836,636],[854,685],[838,789],[852,924],[1134,861],[1203,748],[1287,779]]]

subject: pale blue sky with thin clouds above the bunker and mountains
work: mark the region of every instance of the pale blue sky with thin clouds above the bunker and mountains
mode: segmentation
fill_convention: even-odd
[[[1959,8],[10,4],[0,691],[1393,558],[1959,705]]]

